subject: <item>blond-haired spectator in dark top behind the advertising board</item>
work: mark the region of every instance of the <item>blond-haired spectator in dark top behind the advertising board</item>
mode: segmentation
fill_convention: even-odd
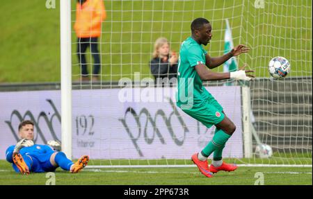
[[[170,43],[165,37],[159,37],[154,43],[153,59],[150,61],[151,73],[154,83],[164,83],[164,78],[177,77],[177,55],[175,51],[170,53]]]

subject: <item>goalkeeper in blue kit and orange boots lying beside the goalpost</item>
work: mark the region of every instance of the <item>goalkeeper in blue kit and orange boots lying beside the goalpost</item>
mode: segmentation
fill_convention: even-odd
[[[61,145],[57,141],[49,141],[50,146],[34,144],[33,127],[32,121],[22,121],[19,124],[19,137],[22,139],[15,146],[10,146],[6,150],[6,160],[12,163],[17,173],[53,172],[58,166],[65,171],[70,171],[70,173],[78,173],[88,164],[88,155],[83,155],[77,162],[73,163],[67,159],[65,153],[56,151],[61,149]]]

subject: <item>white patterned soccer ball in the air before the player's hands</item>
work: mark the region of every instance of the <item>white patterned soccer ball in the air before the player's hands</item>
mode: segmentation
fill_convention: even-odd
[[[268,63],[268,72],[275,79],[284,78],[290,71],[290,63],[286,58],[275,57]]]

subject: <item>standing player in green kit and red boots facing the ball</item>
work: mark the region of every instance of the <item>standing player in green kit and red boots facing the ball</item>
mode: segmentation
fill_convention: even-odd
[[[211,178],[218,171],[234,171],[237,166],[227,164],[222,160],[225,143],[236,130],[234,123],[225,115],[223,107],[211,96],[202,85],[203,80],[251,80],[255,76],[252,70],[218,73],[210,71],[220,66],[232,56],[248,53],[247,46],[239,44],[232,51],[217,58],[211,58],[203,46],[207,46],[212,37],[211,24],[207,19],[194,19],[191,23],[191,37],[188,37],[179,51],[177,71],[177,106],[186,114],[200,121],[207,128],[216,126],[214,137],[200,153],[192,155],[191,159],[200,172]],[[209,69],[207,69],[209,68]],[[213,162],[208,166],[207,158],[213,153]]]

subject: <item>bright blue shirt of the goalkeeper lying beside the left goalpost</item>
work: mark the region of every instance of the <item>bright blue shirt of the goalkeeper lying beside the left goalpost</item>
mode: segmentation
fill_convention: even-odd
[[[15,145],[9,146],[6,150],[6,160],[12,163],[13,168],[15,171],[19,172],[16,165],[13,164],[13,150]],[[50,163],[50,156],[55,153],[50,146],[41,145],[41,144],[34,144],[33,146],[24,147],[19,150],[19,153],[24,158],[27,166],[33,172],[45,172],[45,171],[54,171],[56,167],[52,166]],[[28,161],[30,159],[31,161]]]

